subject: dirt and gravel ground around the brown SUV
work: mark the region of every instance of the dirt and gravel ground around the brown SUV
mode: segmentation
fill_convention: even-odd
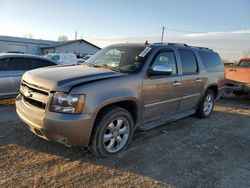
[[[127,151],[96,159],[33,135],[0,102],[0,187],[250,187],[250,97],[220,99],[212,116],[136,132]]]

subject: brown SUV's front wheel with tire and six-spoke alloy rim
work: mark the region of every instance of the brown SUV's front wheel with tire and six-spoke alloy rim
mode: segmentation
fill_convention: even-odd
[[[96,157],[110,157],[126,150],[134,132],[134,120],[124,108],[112,106],[96,119],[89,149]]]

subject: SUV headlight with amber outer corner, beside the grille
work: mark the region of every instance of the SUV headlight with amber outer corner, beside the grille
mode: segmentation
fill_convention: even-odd
[[[50,110],[70,114],[79,114],[84,105],[84,95],[67,94],[57,92],[54,94]]]

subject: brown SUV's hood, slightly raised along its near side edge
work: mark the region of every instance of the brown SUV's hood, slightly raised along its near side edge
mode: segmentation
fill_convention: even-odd
[[[125,76],[124,73],[87,65],[54,66],[28,71],[22,80],[48,91],[68,92],[72,87],[87,82]]]

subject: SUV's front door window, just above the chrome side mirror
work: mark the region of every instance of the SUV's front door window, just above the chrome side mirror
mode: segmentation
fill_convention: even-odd
[[[166,64],[172,66],[172,68],[173,68],[172,74],[177,74],[175,55],[174,55],[174,52],[171,52],[171,51],[160,52],[156,56],[156,58],[151,66],[166,65]]]

